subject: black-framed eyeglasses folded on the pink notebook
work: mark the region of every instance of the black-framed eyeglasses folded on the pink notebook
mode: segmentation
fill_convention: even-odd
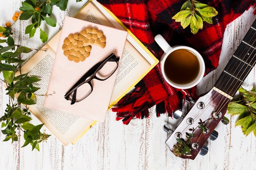
[[[80,102],[87,98],[93,90],[91,83],[92,79],[95,78],[99,81],[104,81],[110,78],[118,68],[119,59],[119,57],[112,53],[103,61],[95,64],[74,84],[73,87],[71,87],[65,94],[65,99],[70,100],[71,105],[73,105],[75,102]]]

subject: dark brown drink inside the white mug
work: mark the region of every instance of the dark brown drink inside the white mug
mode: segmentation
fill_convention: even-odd
[[[173,83],[188,84],[195,80],[199,72],[198,57],[187,49],[171,52],[164,62],[164,73]]]

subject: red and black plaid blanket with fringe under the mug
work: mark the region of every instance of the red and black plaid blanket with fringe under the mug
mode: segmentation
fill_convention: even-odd
[[[186,0],[98,1],[112,11],[158,59],[163,51],[154,41],[157,34],[161,34],[171,46],[185,45],[198,50],[206,65],[205,75],[218,66],[227,24],[255,3],[255,0],[199,0],[214,7],[218,15],[213,17],[213,24],[204,22],[203,29],[193,35],[189,27],[183,29],[180,22],[171,19]],[[173,111],[181,107],[187,93],[196,97],[195,87],[186,91],[171,87],[164,81],[158,64],[112,110],[117,112],[116,119],[122,119],[124,124],[132,118],[147,118],[148,108],[154,105],[157,105],[157,116],[162,113],[172,116]]]

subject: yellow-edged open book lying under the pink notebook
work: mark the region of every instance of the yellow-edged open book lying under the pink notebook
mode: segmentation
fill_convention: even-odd
[[[115,105],[127,92],[134,87],[159,61],[155,56],[113,15],[97,1],[89,1],[75,15],[75,18],[128,32],[124,52],[119,65],[117,79],[110,99],[109,108]],[[38,94],[45,94],[52,72],[54,58],[58,48],[60,33],[56,34],[44,47],[38,51],[22,68],[22,74],[38,76],[36,87],[41,87]],[[53,94],[54,95],[54,94]],[[37,104],[29,106],[29,110],[45,127],[55,135],[63,145],[74,144],[97,121],[74,116],[43,106],[44,96],[37,96]]]

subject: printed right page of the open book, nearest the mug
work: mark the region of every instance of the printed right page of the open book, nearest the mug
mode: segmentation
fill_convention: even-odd
[[[105,9],[101,10],[105,11]],[[113,17],[110,16],[106,18],[106,16],[99,11],[98,6],[96,6],[94,2],[89,2],[75,18],[114,28],[116,28],[116,25],[118,24]],[[117,24],[114,26],[113,23]],[[119,29],[123,29],[120,25],[118,27]],[[128,37],[129,36],[130,35],[128,35]],[[152,57],[150,57],[150,59],[152,60]],[[150,62],[148,62],[138,50],[126,40],[117,79],[110,99],[110,107],[112,107],[112,105],[122,97],[121,95],[150,68]]]

